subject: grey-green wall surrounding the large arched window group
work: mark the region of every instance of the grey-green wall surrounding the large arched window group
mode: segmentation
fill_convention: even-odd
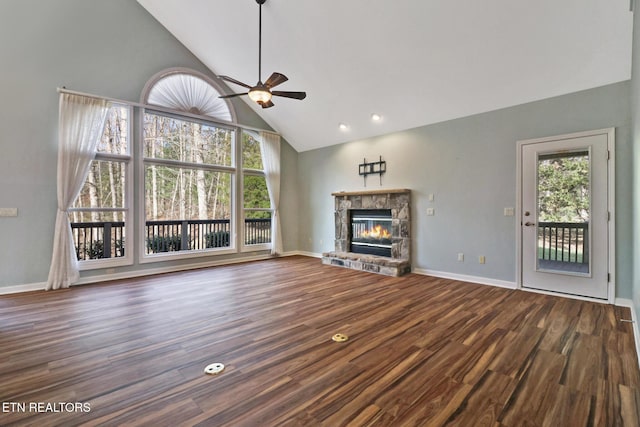
[[[48,275],[56,212],[56,87],[138,101],[147,80],[166,68],[214,76],[134,0],[3,0],[0,40],[0,207],[19,209],[17,218],[0,218],[2,287],[40,283]],[[244,102],[234,102],[240,123],[268,128]],[[282,152],[282,218],[297,227],[291,188],[297,153],[286,142]],[[285,230],[285,250],[297,249],[296,230]]]

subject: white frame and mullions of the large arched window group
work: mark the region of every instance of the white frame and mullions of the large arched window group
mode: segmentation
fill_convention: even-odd
[[[214,116],[201,115],[194,113],[191,110],[182,111],[179,109],[170,108],[163,105],[150,105],[147,102],[150,90],[153,86],[160,81],[163,77],[173,74],[190,74],[204,80],[210,84],[211,87],[219,94],[225,93],[221,90],[221,87],[217,82],[213,81],[210,77],[199,73],[197,71],[185,69],[185,68],[172,68],[165,71],[161,71],[154,75],[145,85],[142,91],[141,102],[134,103],[129,101],[118,100],[114,98],[105,98],[112,103],[113,106],[124,107],[127,110],[127,154],[110,154],[110,153],[96,153],[94,160],[98,161],[116,161],[124,162],[124,171],[126,174],[126,195],[124,197],[123,208],[71,208],[69,211],[74,210],[82,212],[101,211],[121,211],[125,213],[125,225],[124,233],[127,238],[125,239],[125,254],[123,257],[118,258],[100,258],[92,260],[79,260],[79,269],[81,271],[86,270],[99,270],[110,269],[112,267],[130,266],[134,264],[147,264],[147,263],[160,263],[166,261],[176,261],[188,258],[202,258],[202,257],[216,257],[219,255],[241,255],[247,252],[253,252],[254,255],[264,253],[271,250],[274,242],[273,236],[269,243],[263,244],[245,244],[245,212],[249,211],[265,211],[270,212],[271,221],[273,221],[273,201],[269,195],[269,204],[271,208],[246,208],[244,207],[244,176],[255,175],[265,177],[264,170],[244,168],[243,167],[243,152],[242,152],[242,135],[244,132],[250,133],[254,139],[260,142],[261,129],[252,128],[250,126],[243,126],[237,123],[236,112],[233,108],[233,104],[225,99],[228,110],[231,114],[232,121],[228,122],[224,119],[216,118]],[[95,95],[91,95],[95,96]],[[164,164],[166,166],[174,167],[189,167],[180,161],[172,161],[167,159],[145,159],[144,157],[144,120],[145,114],[150,112],[152,114],[159,114],[163,116],[169,116],[176,118],[177,120],[199,122],[208,126],[217,128],[224,128],[232,131],[231,139],[231,164],[230,166],[215,165],[210,167],[206,165],[205,170],[213,170],[224,173],[229,173],[230,177],[230,246],[224,248],[207,248],[201,250],[188,250],[188,251],[171,251],[171,252],[159,252],[159,253],[146,253],[146,211],[145,211],[145,165],[152,164]],[[262,149],[262,147],[261,147]],[[147,162],[151,160],[151,162]],[[264,168],[264,166],[263,166]],[[273,225],[272,225],[273,230]],[[107,270],[107,273],[113,271]]]

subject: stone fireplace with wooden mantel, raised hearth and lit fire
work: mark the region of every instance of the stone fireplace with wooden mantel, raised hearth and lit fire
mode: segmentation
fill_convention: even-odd
[[[400,276],[411,271],[411,191],[333,193],[335,251],[328,265]]]

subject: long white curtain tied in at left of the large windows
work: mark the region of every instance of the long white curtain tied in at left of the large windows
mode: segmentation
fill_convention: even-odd
[[[87,178],[109,107],[109,102],[103,99],[60,94],[58,211],[47,290],[68,288],[80,278],[68,209]]]

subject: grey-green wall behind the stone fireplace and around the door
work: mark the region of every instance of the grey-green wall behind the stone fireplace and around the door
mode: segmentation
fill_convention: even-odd
[[[340,190],[413,192],[413,266],[515,282],[516,142],[616,128],[617,297],[631,298],[629,82],[354,141],[299,155],[301,249],[333,249],[333,198]],[[386,118],[393,120],[393,118]],[[358,176],[363,158],[387,161],[382,187]],[[434,201],[428,201],[428,195]],[[427,216],[427,208],[435,215]],[[457,262],[457,254],[465,261]],[[478,263],[478,256],[486,264]]]

